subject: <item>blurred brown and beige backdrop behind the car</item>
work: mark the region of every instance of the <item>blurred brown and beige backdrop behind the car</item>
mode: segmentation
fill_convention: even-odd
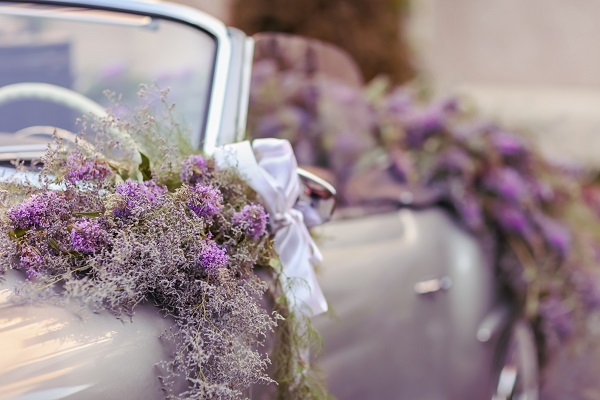
[[[594,0],[180,0],[247,33],[344,48],[365,80],[420,77],[464,94],[555,159],[600,167],[600,3]],[[373,23],[377,21],[377,23]]]

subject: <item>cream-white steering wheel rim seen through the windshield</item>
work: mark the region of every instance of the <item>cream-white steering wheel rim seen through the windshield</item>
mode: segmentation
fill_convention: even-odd
[[[6,85],[0,88],[0,106],[17,100],[45,100],[69,107],[80,114],[92,114],[97,118],[106,118],[108,113],[100,104],[74,90],[49,83],[23,82]],[[123,144],[137,149],[131,135],[122,130],[110,130],[110,133]],[[142,157],[139,151],[134,152],[133,161],[139,165]]]

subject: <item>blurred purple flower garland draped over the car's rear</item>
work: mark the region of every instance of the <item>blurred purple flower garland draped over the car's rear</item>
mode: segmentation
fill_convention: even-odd
[[[458,99],[384,79],[353,85],[320,74],[315,60],[306,69],[272,50],[256,61],[253,137],[289,139],[301,165],[329,171],[346,206],[397,206],[390,193],[407,185],[437,193],[462,225],[496,244],[498,271],[535,329],[542,362],[581,332],[600,305],[599,221],[585,201],[597,192],[583,185],[582,169],[553,165]],[[374,177],[391,189],[357,192]]]

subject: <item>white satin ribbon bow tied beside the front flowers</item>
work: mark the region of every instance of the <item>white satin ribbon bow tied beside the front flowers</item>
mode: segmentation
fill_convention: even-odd
[[[301,211],[294,205],[302,191],[298,164],[287,140],[256,139],[218,147],[214,152],[218,167],[235,167],[261,197],[269,213],[275,251],[289,278],[284,291],[291,306],[309,317],[327,311],[313,264],[322,255],[310,236]]]

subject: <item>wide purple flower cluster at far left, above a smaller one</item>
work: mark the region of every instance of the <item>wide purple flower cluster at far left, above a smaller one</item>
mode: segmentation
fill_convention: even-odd
[[[47,191],[34,194],[18,206],[8,210],[8,217],[22,229],[49,228],[52,220],[69,213],[68,205],[59,193]]]

